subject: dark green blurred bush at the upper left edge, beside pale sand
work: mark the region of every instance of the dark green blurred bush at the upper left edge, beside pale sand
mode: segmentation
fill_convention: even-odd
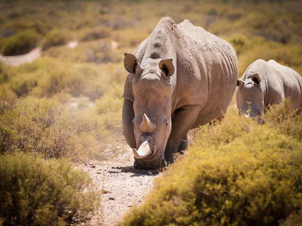
[[[5,56],[13,56],[28,53],[35,48],[40,40],[34,30],[24,30],[16,35],[2,39],[0,41],[1,53]]]

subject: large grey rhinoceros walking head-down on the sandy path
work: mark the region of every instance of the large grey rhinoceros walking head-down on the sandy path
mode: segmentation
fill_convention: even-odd
[[[125,53],[123,128],[134,167],[158,169],[187,148],[190,129],[222,116],[236,89],[237,54],[226,41],[185,20],[163,18]]]

